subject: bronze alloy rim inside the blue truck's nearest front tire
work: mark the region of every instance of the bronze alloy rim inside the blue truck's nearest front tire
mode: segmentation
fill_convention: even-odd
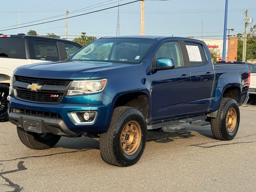
[[[142,133],[138,122],[129,121],[122,130],[120,136],[120,144],[126,155],[134,154],[141,143]]]

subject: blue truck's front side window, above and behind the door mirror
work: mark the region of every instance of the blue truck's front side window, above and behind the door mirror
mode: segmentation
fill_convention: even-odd
[[[162,44],[156,51],[156,60],[158,58],[172,58],[175,68],[183,67],[180,46],[178,42],[166,42]]]

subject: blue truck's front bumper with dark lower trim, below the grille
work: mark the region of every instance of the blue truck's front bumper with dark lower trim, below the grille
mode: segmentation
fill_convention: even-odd
[[[108,96],[107,96],[108,97]],[[108,130],[110,119],[112,116],[111,110],[111,98],[109,97],[108,105],[99,104],[35,104],[16,100],[10,97],[10,107],[19,108],[25,110],[40,111],[46,113],[59,114],[61,118],[50,118],[42,116],[33,116],[29,114],[20,114],[10,111],[10,122],[22,128],[26,128],[28,131],[34,131],[39,133],[51,132],[58,135],[70,135],[75,136],[81,132],[105,132]],[[89,124],[76,124],[71,117],[70,112],[78,111],[96,111],[96,120]],[[31,120],[36,123],[36,120],[40,126],[29,126],[24,124],[24,119]],[[34,120],[34,121],[33,121]],[[30,129],[30,130],[29,130]]]

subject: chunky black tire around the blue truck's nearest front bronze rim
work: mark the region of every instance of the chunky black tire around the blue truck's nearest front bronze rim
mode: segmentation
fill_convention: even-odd
[[[122,149],[123,129],[129,122],[140,126],[141,140],[134,154],[127,155]],[[137,138],[137,136],[136,136]],[[147,126],[142,113],[132,107],[117,107],[114,109],[110,127],[107,132],[100,134],[100,154],[104,162],[115,166],[131,166],[138,162],[146,146]]]

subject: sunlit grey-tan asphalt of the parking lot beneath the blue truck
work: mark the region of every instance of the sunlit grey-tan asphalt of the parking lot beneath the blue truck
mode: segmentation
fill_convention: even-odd
[[[134,166],[110,166],[99,142],[61,138],[54,148],[32,150],[16,127],[0,123],[0,192],[254,192],[256,106],[240,107],[240,128],[231,141],[215,140],[210,126],[184,124],[184,132],[149,132]]]

